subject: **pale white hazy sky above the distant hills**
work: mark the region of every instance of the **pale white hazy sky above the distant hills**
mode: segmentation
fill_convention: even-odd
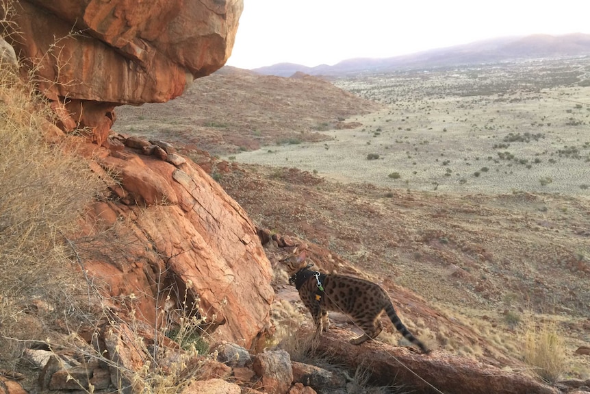
[[[590,34],[590,0],[244,0],[227,64],[317,66],[574,32]]]

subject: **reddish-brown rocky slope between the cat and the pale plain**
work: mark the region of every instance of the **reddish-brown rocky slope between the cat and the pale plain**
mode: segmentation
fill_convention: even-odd
[[[589,266],[577,252],[590,225],[585,201],[398,192],[265,167],[219,182],[259,225],[322,245],[383,284],[407,325],[437,347],[519,358],[533,313],[559,321],[570,354],[589,339]],[[326,260],[315,259],[342,270]],[[572,362],[587,373],[587,360]]]

